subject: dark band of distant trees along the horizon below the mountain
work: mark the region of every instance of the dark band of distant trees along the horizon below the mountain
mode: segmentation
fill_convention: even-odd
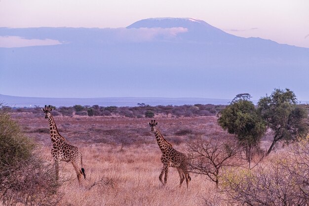
[[[138,103],[136,107],[102,107],[99,105],[82,106],[75,105],[73,107],[54,107],[53,116],[123,116],[129,118],[152,118],[154,115],[164,115],[166,117],[193,117],[193,116],[215,116],[224,109],[226,105],[213,104],[195,104],[183,106],[150,106],[144,103]],[[11,112],[32,112],[34,114],[41,113],[40,107],[34,108],[7,108]]]

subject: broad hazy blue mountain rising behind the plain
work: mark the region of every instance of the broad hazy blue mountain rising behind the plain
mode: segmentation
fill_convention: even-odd
[[[287,87],[309,99],[309,48],[236,37],[197,19],[151,18],[117,29],[0,28],[0,36],[34,45],[0,48],[1,94],[259,99]],[[59,43],[35,46],[49,40]]]

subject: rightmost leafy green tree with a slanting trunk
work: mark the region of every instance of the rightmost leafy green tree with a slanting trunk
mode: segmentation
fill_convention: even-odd
[[[275,89],[270,96],[262,97],[258,102],[258,111],[274,132],[267,155],[278,141],[288,143],[304,138],[308,133],[308,113],[298,105],[294,92],[288,88]]]

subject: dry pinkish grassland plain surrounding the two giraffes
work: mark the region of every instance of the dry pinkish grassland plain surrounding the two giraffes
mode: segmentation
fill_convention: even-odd
[[[18,121],[27,136],[40,145],[38,152],[42,153],[46,161],[52,163],[49,127],[43,114],[39,116],[20,112],[12,114],[12,118]],[[60,176],[64,180],[60,187],[61,197],[58,202],[61,206],[250,205],[245,200],[233,198],[233,195],[237,196],[237,194],[231,188],[233,184],[240,181],[236,177],[245,179],[251,175],[251,170],[270,167],[280,159],[279,157],[287,154],[287,147],[279,145],[274,153],[261,162],[259,162],[259,156],[256,156],[255,161],[259,162],[259,166],[251,170],[238,157],[240,159],[237,161],[241,164],[237,168],[231,170],[223,168],[224,175],[220,179],[222,184],[219,188],[216,188],[215,183],[206,175],[195,173],[191,173],[192,181],[188,189],[185,182],[179,188],[180,178],[175,168],[170,168],[167,185],[162,186],[158,179],[162,168],[161,152],[148,125],[151,119],[101,116],[57,116],[54,119],[59,132],[70,144],[81,150],[86,173],[86,179],[79,186],[71,163],[60,163]],[[173,147],[183,153],[188,153],[187,144],[194,141],[196,137],[207,138],[210,135],[218,135],[233,139],[233,135],[228,134],[217,124],[217,118],[214,116],[166,117],[160,115],[152,119],[158,122],[158,128]],[[269,131],[262,139],[262,149],[270,145],[270,138]],[[236,183],[232,181],[233,179]],[[267,184],[266,181],[265,183]],[[248,190],[249,186],[243,187]],[[248,194],[245,193],[243,196]],[[250,195],[247,196],[247,198],[250,197]],[[251,205],[263,205],[263,201],[261,204]]]

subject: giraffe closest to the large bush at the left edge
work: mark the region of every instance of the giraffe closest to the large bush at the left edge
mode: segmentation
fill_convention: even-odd
[[[82,168],[82,155],[78,147],[69,145],[65,138],[59,134],[55,120],[50,113],[53,108],[50,105],[48,107],[45,105],[45,108],[41,108],[41,110],[45,113],[45,119],[48,119],[49,123],[50,139],[53,144],[51,154],[55,161],[56,180],[59,177],[59,162],[71,162],[77,173],[78,184],[80,184],[81,175],[86,179],[86,174],[85,169]],[[79,169],[79,164],[81,164],[81,169]]]

